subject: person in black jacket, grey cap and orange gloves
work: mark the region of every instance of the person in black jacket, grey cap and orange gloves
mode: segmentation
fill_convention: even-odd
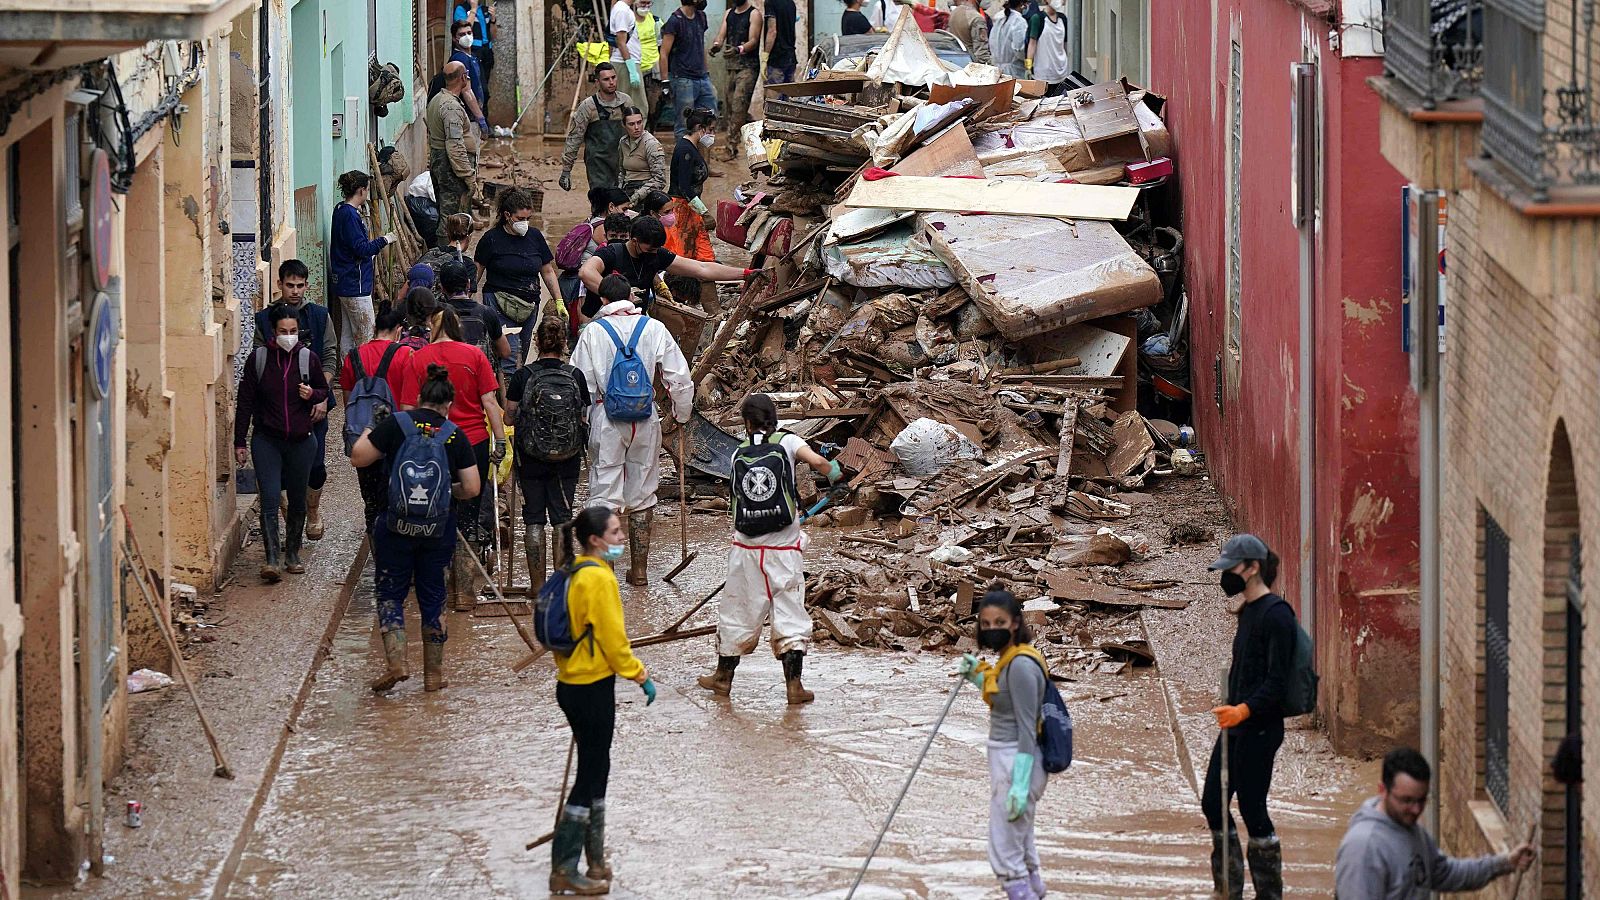
[[[1256,535],[1235,535],[1211,564],[1222,573],[1222,593],[1234,597],[1230,612],[1238,615],[1234,631],[1234,660],[1227,674],[1227,697],[1211,713],[1216,716],[1216,746],[1206,767],[1200,807],[1211,826],[1211,881],[1222,890],[1227,865],[1229,897],[1243,897],[1245,860],[1229,812],[1238,796],[1238,814],[1250,831],[1250,879],[1256,897],[1283,897],[1283,850],[1267,815],[1272,764],[1283,745],[1283,697],[1294,666],[1298,625],[1288,601],[1272,593],[1278,578],[1278,556]],[[1227,741],[1227,798],[1222,796],[1222,741]],[[1224,830],[1224,825],[1227,826]],[[1221,894],[1219,894],[1221,895]]]

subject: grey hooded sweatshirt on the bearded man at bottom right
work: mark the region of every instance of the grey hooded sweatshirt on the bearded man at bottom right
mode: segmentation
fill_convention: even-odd
[[[1406,828],[1370,798],[1350,817],[1334,857],[1339,900],[1422,900],[1429,890],[1477,890],[1506,873],[1502,855],[1458,860],[1438,850],[1419,825]]]

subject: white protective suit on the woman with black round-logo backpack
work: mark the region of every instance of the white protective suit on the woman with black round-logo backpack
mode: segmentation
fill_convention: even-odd
[[[758,436],[762,437],[762,436]],[[806,445],[797,434],[782,436],[789,468]],[[773,655],[806,652],[811,645],[811,613],[805,610],[805,546],[800,511],[787,528],[752,536],[733,532],[728,548],[728,583],[717,615],[717,653],[744,657],[762,639],[762,625],[773,620]]]

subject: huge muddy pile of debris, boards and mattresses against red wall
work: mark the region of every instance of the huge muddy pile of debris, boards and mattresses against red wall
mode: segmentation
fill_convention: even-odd
[[[1162,99],[1043,93],[955,70],[901,16],[854,69],[768,86],[742,136],[755,178],[717,234],[765,277],[675,328],[710,410],[690,468],[726,477],[750,391],[837,448],[854,495],[811,522],[848,528],[811,560],[819,637],[968,650],[998,583],[1072,677],[1147,665],[1138,609],[1184,605],[1117,575],[1150,549],[1117,495],[1198,471],[1192,431],[1136,410],[1187,420]]]

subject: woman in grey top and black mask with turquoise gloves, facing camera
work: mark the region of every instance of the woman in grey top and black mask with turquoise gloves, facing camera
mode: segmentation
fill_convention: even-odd
[[[989,705],[989,866],[1006,900],[1045,897],[1034,818],[1050,778],[1038,757],[1048,666],[1030,637],[1022,604],[1010,591],[992,589],[978,604],[978,645],[998,660],[990,665],[965,653],[958,669]]]

